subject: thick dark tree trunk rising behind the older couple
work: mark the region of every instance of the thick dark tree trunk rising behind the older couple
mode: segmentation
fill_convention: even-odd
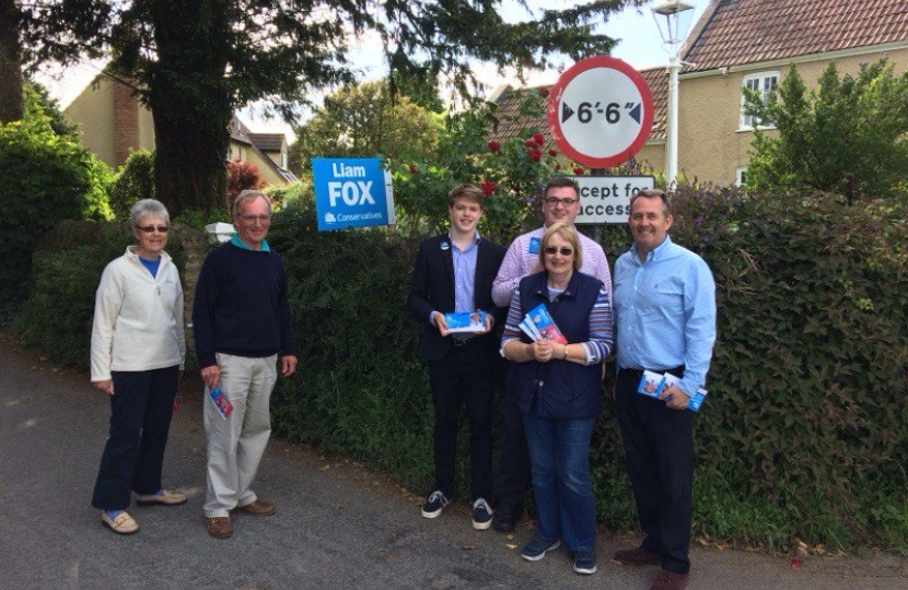
[[[141,82],[154,118],[158,198],[172,216],[226,202],[233,96],[224,78],[230,34],[221,3],[153,2],[158,61]]]

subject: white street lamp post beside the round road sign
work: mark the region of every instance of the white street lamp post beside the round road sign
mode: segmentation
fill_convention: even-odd
[[[679,0],[665,0],[652,8],[659,34],[668,51],[668,116],[665,138],[665,187],[675,185],[678,174],[678,72],[683,62],[685,35],[694,7]]]

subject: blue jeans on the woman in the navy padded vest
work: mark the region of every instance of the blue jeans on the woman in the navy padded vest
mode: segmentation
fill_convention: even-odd
[[[532,413],[523,418],[539,521],[536,535],[561,539],[570,551],[595,548],[590,439],[596,418],[549,420]]]

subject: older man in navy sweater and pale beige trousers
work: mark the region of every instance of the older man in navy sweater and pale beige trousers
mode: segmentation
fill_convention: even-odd
[[[296,369],[287,273],[265,241],[271,224],[268,198],[255,190],[241,192],[233,223],[233,239],[205,260],[193,306],[201,378],[210,391],[220,388],[233,408],[223,415],[205,402],[205,516],[216,539],[233,534],[231,512],[275,514],[275,504],[259,498],[251,485],[271,435],[268,404],[277,365],[284,376]]]

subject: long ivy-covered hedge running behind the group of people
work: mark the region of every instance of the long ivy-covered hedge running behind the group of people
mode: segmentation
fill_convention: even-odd
[[[673,239],[705,257],[718,286],[695,535],[908,552],[908,205],[685,187],[673,206]],[[599,235],[614,263],[626,229]],[[298,374],[272,397],[275,427],[429,491],[432,409],[420,327],[404,305],[418,241],[385,228],[318,233],[312,201],[299,199],[276,215],[269,243],[288,267],[300,349]],[[40,296],[90,298],[108,252],[81,292],[56,283],[75,281],[60,273],[92,252],[60,256],[73,258],[39,266]],[[61,341],[85,326],[46,316],[42,330],[56,327]],[[610,403],[591,455],[601,522],[632,529]]]

